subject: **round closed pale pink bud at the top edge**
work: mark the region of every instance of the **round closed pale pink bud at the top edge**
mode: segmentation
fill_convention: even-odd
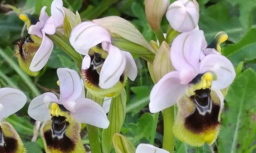
[[[196,0],[174,1],[166,12],[166,18],[174,30],[192,31],[198,25],[199,5]]]

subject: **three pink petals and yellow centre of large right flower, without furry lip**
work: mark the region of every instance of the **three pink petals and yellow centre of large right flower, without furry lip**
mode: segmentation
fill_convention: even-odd
[[[174,39],[170,56],[176,71],[166,74],[151,90],[151,113],[174,105],[180,95],[190,97],[200,89],[224,89],[233,82],[236,73],[226,57],[210,54],[199,61],[206,46],[202,30],[182,33]]]

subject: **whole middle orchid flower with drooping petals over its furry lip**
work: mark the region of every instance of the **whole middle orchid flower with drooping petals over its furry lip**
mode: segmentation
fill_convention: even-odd
[[[102,26],[92,21],[82,22],[72,30],[69,41],[78,53],[86,55],[82,75],[86,88],[93,94],[118,95],[126,76],[131,80],[136,78],[137,67],[131,54],[112,45],[110,34]]]

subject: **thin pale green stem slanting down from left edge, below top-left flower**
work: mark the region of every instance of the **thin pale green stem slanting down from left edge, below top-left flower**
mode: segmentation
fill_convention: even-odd
[[[0,49],[0,56],[3,57],[3,59],[6,60],[6,62],[13,68],[20,76],[20,78],[24,81],[25,84],[28,85],[28,87],[31,89],[33,96],[36,97],[40,95],[39,90],[37,87],[35,87],[32,79],[23,71],[20,69],[19,65],[16,64],[13,59],[11,59],[8,55],[4,53],[3,50]]]

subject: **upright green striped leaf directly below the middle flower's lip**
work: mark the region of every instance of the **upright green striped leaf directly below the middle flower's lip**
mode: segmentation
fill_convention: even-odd
[[[107,118],[110,121],[110,125],[107,129],[102,130],[102,150],[103,153],[110,153],[112,147],[113,134],[121,131],[122,125],[125,120],[126,113],[126,92],[125,89],[119,96],[112,98],[110,104],[110,111]]]

